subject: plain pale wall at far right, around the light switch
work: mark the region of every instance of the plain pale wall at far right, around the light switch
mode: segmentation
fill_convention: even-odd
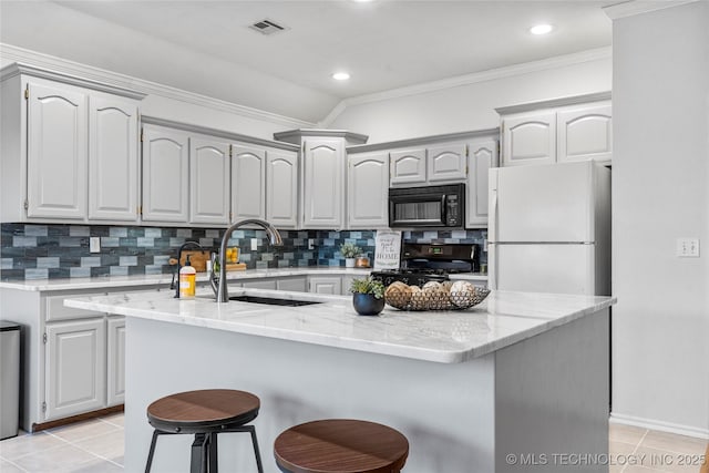
[[[709,436],[709,3],[613,37],[614,417]]]

